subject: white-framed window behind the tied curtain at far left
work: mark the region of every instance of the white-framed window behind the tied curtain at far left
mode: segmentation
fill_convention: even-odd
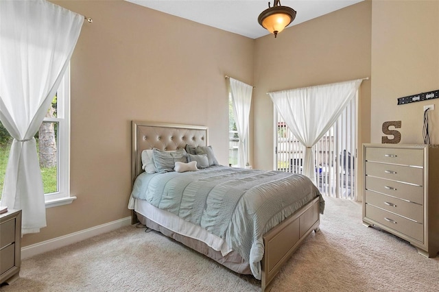
[[[46,208],[69,204],[70,197],[70,68],[35,135]],[[12,137],[0,123],[0,190],[3,190]],[[0,192],[1,199],[1,192]]]

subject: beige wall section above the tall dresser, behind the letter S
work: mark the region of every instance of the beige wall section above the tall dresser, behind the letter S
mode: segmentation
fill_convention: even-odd
[[[371,142],[385,121],[401,121],[401,143],[423,144],[423,108],[439,144],[439,99],[398,106],[397,99],[439,89],[439,1],[372,2]],[[390,136],[392,138],[392,136]]]

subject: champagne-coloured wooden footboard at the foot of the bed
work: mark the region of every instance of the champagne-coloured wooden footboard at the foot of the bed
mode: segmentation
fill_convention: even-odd
[[[313,199],[263,236],[261,291],[270,291],[274,276],[300,243],[320,224],[319,198]]]

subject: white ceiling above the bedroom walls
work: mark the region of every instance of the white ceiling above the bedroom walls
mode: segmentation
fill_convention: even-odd
[[[228,32],[259,38],[270,34],[258,23],[259,14],[268,8],[268,0],[126,0],[147,8],[189,19]],[[297,25],[364,0],[284,0],[281,5],[296,10]],[[273,1],[270,1],[273,5]]]

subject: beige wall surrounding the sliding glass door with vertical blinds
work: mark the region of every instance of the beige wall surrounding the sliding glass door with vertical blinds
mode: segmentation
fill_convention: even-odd
[[[266,93],[370,77],[370,41],[370,1],[294,25],[277,38],[256,40],[255,167],[272,169],[274,165],[273,104]],[[359,111],[361,149],[361,143],[370,138],[370,80],[361,85]]]

